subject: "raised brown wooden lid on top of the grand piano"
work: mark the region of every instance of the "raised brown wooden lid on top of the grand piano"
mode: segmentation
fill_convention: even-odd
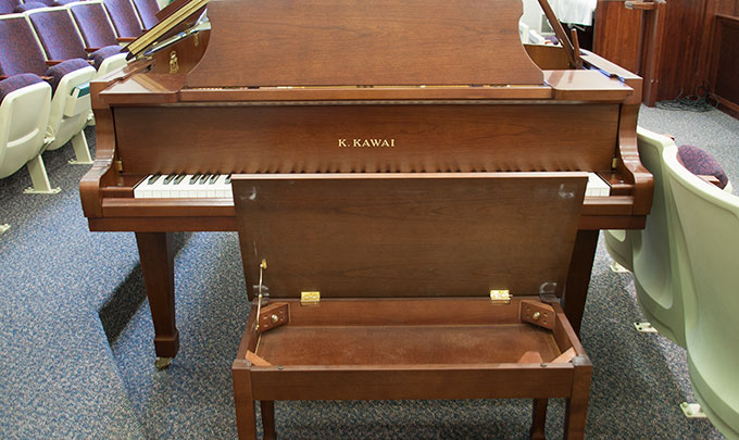
[[[190,88],[542,85],[521,0],[212,0]]]

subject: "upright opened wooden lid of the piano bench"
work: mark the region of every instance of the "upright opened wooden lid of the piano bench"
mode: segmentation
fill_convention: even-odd
[[[249,297],[561,294],[586,173],[231,178]]]

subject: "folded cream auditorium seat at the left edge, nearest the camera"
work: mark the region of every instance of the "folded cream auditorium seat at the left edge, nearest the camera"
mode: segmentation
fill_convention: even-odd
[[[26,165],[33,185],[28,192],[59,192],[51,188],[41,159],[50,106],[51,86],[37,75],[0,80],[0,178]]]

